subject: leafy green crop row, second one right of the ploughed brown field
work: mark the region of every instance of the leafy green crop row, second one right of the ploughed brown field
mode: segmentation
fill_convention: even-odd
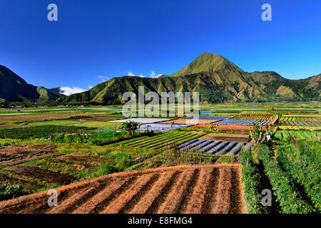
[[[297,187],[287,173],[283,172],[267,145],[263,144],[258,147],[258,155],[263,162],[265,175],[269,178],[272,190],[280,203],[282,213],[307,214],[315,212],[315,209],[302,199]]]

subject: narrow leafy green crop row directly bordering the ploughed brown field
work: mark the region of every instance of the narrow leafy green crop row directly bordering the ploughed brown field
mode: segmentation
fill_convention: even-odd
[[[241,150],[239,155],[248,212],[250,214],[266,214],[266,210],[261,203],[262,195],[260,195],[258,169],[255,166],[252,152],[250,150]]]

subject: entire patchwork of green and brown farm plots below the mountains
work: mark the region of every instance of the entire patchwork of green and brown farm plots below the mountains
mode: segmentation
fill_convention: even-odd
[[[135,133],[123,125],[128,119],[120,106],[0,109],[0,213],[318,212],[313,196],[319,189],[290,170],[292,162],[300,164],[309,154],[319,159],[318,108],[200,106],[196,121],[177,116],[131,118],[138,121]],[[250,136],[253,123],[274,133],[264,151],[265,144],[255,145]],[[266,162],[269,151],[292,156],[277,157],[274,175]],[[310,170],[320,173],[317,167],[307,162],[302,170],[310,178]],[[273,179],[278,175],[287,180],[288,195],[300,193],[293,202],[287,195],[285,202],[280,198],[282,190]],[[298,182],[304,190],[293,184]],[[20,186],[21,192],[4,194],[2,186]],[[275,206],[256,203],[260,192],[272,187]],[[61,194],[58,207],[46,207],[43,200],[51,188]]]

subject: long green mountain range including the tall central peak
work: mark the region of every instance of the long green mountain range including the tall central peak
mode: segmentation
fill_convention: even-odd
[[[57,103],[124,103],[123,93],[200,92],[203,103],[226,101],[320,100],[320,75],[302,80],[282,78],[275,72],[246,73],[220,55],[203,53],[192,63],[169,76],[140,78],[123,76],[112,78],[90,90],[59,98]]]

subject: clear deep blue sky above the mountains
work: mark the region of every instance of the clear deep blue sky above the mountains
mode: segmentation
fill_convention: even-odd
[[[58,21],[47,19],[51,3]],[[265,3],[272,21],[261,19]],[[174,73],[203,52],[307,78],[321,73],[320,10],[317,0],[0,0],[0,64],[35,86],[84,90]]]

